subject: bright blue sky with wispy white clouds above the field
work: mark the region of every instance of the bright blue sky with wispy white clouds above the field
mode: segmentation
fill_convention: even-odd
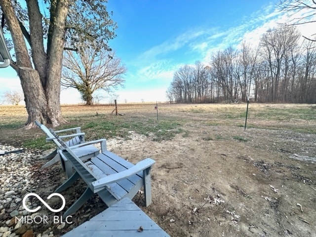
[[[108,11],[117,22],[117,37],[109,41],[127,68],[124,88],[114,94],[118,103],[164,102],[173,74],[197,60],[205,65],[212,53],[245,40],[258,44],[262,34],[277,23],[288,22],[278,0],[108,0]],[[316,25],[301,25],[311,37]],[[12,68],[0,71],[0,95],[22,91]],[[101,102],[115,96],[96,92]],[[61,104],[82,103],[75,89],[61,91]]]

